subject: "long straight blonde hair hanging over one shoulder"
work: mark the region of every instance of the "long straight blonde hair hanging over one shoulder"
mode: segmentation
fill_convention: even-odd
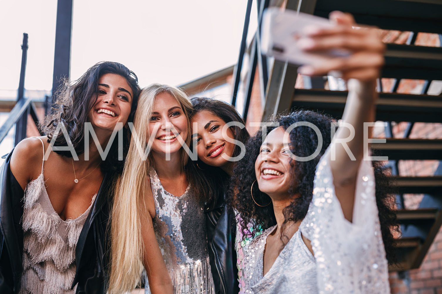
[[[141,222],[150,217],[145,205],[145,189],[149,170],[153,167],[152,156],[143,160],[137,150],[137,143],[146,147],[150,138],[149,122],[155,98],[161,93],[168,93],[180,104],[187,117],[187,138],[191,140],[189,115],[192,104],[187,94],[168,85],[154,83],[145,87],[140,94],[137,111],[133,120],[132,138],[127,153],[122,176],[115,188],[114,203],[110,215],[110,275],[109,294],[120,294],[132,290],[140,281],[143,268],[144,245],[141,236]],[[136,136],[134,136],[136,133]],[[137,142],[138,141],[138,142]],[[188,155],[182,151],[182,168],[187,164]]]

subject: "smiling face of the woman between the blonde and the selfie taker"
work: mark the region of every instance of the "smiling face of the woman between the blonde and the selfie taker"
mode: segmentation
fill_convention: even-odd
[[[223,158],[223,154],[232,157],[235,144],[222,136],[225,121],[207,110],[198,112],[192,117],[191,125],[196,122],[198,127],[192,129],[192,138],[197,141],[198,158],[209,166],[225,167],[232,162]],[[231,128],[227,128],[227,136],[233,139]]]

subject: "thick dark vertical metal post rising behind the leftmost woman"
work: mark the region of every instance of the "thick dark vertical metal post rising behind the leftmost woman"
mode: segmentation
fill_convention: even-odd
[[[57,1],[57,25],[55,28],[54,70],[52,76],[52,102],[62,79],[69,78],[72,31],[72,0]]]

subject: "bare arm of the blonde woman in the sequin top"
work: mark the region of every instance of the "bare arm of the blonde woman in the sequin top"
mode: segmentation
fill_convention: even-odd
[[[168,269],[161,254],[160,246],[156,241],[155,232],[153,230],[152,224],[152,203],[153,205],[153,195],[150,189],[150,183],[148,181],[149,188],[146,190],[146,209],[142,216],[144,221],[141,223],[141,234],[143,237],[144,244],[144,254],[143,254],[143,264],[146,269],[147,278],[149,280],[149,288],[152,294],[172,294],[173,285],[172,279],[169,275]],[[155,209],[153,209],[153,213]],[[155,215],[153,215],[155,216]]]

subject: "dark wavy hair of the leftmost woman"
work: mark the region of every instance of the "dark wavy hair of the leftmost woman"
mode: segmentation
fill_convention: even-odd
[[[132,92],[132,106],[128,122],[133,121],[137,109],[140,87],[135,73],[126,66],[117,62],[102,61],[89,68],[81,77],[72,84],[66,79],[57,89],[57,101],[52,106],[52,114],[46,116],[43,122],[43,131],[48,136],[50,143],[57,126],[63,123],[71,139],[77,155],[84,153],[84,123],[89,121],[89,110],[95,104],[98,96],[98,81],[102,75],[113,73],[124,77]],[[123,128],[123,158],[126,158],[130,143],[130,132]],[[57,136],[54,146],[67,146],[65,136]],[[55,151],[58,155],[72,157],[70,151]],[[101,163],[103,171],[121,173],[124,160],[118,160],[118,139],[114,139],[109,154]]]

